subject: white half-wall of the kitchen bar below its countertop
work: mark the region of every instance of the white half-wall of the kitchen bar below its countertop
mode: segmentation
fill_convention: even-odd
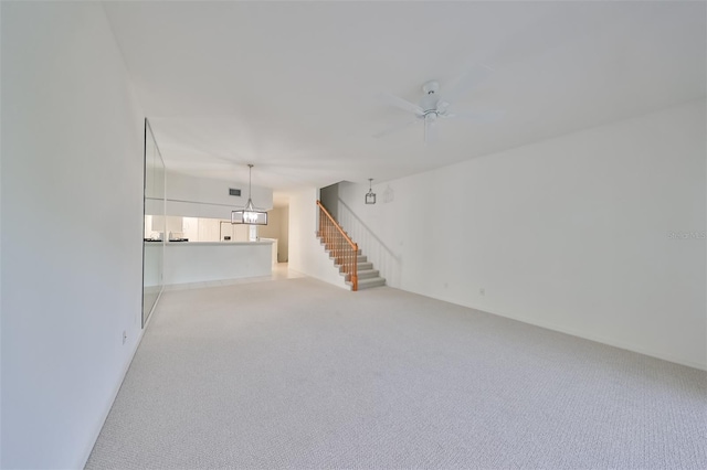
[[[165,285],[270,276],[273,241],[168,242]]]

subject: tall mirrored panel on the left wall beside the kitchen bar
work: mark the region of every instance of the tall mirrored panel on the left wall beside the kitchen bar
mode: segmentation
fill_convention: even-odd
[[[143,242],[143,328],[163,288],[165,162],[145,119],[145,233]]]

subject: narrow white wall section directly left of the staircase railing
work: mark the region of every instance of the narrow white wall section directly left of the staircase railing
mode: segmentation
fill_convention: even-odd
[[[318,191],[310,188],[289,196],[289,268],[348,289],[316,236]]]

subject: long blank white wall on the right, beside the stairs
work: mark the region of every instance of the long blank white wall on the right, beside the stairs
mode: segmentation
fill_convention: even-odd
[[[705,368],[705,126],[690,103],[380,184],[376,205],[342,183],[342,224],[393,287]]]

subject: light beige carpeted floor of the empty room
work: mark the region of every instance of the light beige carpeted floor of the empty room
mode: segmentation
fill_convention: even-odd
[[[89,469],[705,469],[706,373],[391,288],[165,292]]]

